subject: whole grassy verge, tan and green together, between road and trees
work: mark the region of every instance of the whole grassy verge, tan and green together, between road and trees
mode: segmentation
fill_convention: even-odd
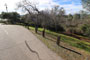
[[[34,33],[34,27],[30,27],[31,31]],[[39,28],[39,32],[42,32],[43,29]],[[64,35],[64,34],[59,34],[50,30],[46,30],[46,38],[43,38],[40,34],[34,33],[42,42],[44,42],[48,48],[56,52],[58,55],[63,57],[65,60],[86,60],[90,57],[90,43],[81,41],[79,39]],[[56,39],[50,39],[47,38],[49,35],[52,37],[57,37],[61,36],[61,45],[64,47],[67,47],[69,49],[75,50],[82,55],[79,55],[73,51],[70,51],[68,49],[65,49],[63,47],[57,46],[56,44]]]

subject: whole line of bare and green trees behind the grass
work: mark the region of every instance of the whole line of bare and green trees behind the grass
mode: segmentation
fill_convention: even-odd
[[[88,4],[87,4],[87,2]],[[88,0],[82,0],[82,5],[90,5]],[[85,8],[87,11],[81,10],[76,14],[66,14],[65,9],[58,5],[52,9],[39,10],[36,4],[32,4],[28,0],[23,0],[17,4],[17,7],[27,11],[27,14],[20,15],[17,12],[2,12],[0,17],[8,19],[10,24],[24,24],[26,26],[34,26],[37,33],[38,27],[52,30],[59,33],[78,34],[90,37],[90,7]]]

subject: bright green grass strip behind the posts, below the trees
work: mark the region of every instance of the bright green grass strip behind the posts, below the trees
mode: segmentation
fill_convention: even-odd
[[[30,29],[34,30],[35,28],[30,27]],[[42,28],[39,28],[38,30],[43,31]],[[50,30],[46,30],[46,33],[51,34],[51,35],[56,36],[56,37],[61,36],[61,41],[66,42],[66,43],[70,44],[71,46],[74,46],[74,47],[83,49],[87,52],[90,52],[90,43],[88,43],[88,42],[81,41],[79,39],[76,39],[76,38],[73,38],[73,37],[70,37],[70,36],[66,36],[64,34],[58,34],[58,33],[52,32]]]

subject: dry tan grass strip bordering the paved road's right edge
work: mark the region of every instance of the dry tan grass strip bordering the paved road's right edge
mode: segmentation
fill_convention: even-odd
[[[46,33],[46,38],[43,38],[41,36],[41,32],[39,31],[38,34],[34,33],[34,30],[31,29],[33,34],[37,36],[45,45],[47,45],[48,48],[50,48],[52,51],[57,53],[59,56],[61,56],[65,60],[90,60],[90,52],[86,52],[82,49],[70,46],[70,44],[66,42],[61,42],[60,45],[66,48],[69,48],[71,50],[74,50],[76,52],[81,53],[82,55],[79,55],[75,52],[72,52],[68,49],[62,48],[61,46],[58,46],[56,44],[56,37]]]

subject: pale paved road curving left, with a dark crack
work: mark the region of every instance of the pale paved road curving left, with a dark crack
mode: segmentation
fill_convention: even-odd
[[[29,30],[0,24],[0,60],[63,60]]]

